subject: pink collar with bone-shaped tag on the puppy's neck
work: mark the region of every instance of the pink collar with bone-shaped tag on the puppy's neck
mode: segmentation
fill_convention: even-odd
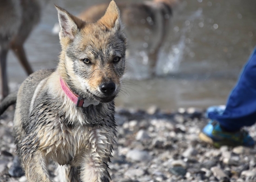
[[[59,77],[59,81],[60,81],[60,85],[62,90],[64,91],[64,93],[69,97],[69,99],[75,103],[75,105],[77,107],[88,107],[91,104],[93,104],[94,106],[98,105],[99,102],[98,101],[89,101],[86,100],[84,98],[81,98],[80,96],[76,95],[75,93],[73,93],[69,86],[67,85],[67,83],[61,78]]]

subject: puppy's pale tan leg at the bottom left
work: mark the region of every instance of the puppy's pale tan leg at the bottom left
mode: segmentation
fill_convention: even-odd
[[[24,167],[27,182],[51,182],[48,176],[46,160],[40,151],[21,152],[21,162]]]

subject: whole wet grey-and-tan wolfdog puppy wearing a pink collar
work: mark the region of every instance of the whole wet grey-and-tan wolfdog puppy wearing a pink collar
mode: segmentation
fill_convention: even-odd
[[[57,69],[30,75],[17,98],[7,96],[0,108],[16,100],[14,137],[28,182],[50,182],[50,160],[64,166],[61,182],[109,182],[113,100],[127,44],[119,10],[112,0],[100,20],[87,23],[56,9],[62,47]]]

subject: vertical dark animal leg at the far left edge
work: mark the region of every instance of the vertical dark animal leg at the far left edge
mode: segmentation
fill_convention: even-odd
[[[7,72],[6,72],[6,57],[8,49],[0,48],[0,66],[1,66],[1,81],[2,81],[2,96],[5,98],[9,94]]]

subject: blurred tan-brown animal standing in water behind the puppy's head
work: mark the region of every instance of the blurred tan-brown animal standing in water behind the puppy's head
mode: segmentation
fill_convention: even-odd
[[[153,0],[141,3],[117,3],[128,39],[128,53],[145,51],[148,55],[150,74],[155,74],[155,66],[160,47],[164,45],[171,25],[172,6],[177,0]],[[79,18],[96,21],[107,9],[107,4],[99,4],[83,11]]]

